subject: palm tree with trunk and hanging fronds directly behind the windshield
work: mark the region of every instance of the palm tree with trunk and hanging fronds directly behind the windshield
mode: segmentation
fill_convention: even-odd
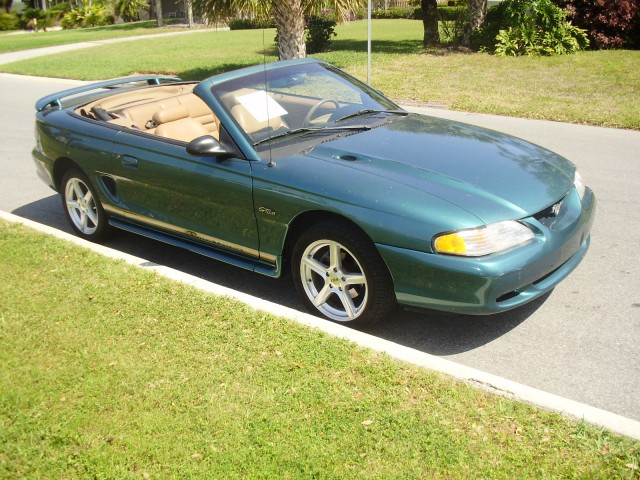
[[[193,8],[209,23],[236,16],[270,18],[278,31],[278,53],[281,60],[306,56],[304,18],[333,8],[339,20],[363,4],[364,0],[193,0]]]

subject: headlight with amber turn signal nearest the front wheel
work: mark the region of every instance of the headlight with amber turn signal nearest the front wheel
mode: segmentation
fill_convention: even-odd
[[[433,248],[437,253],[481,257],[524,245],[532,239],[533,232],[528,227],[510,220],[439,235]]]

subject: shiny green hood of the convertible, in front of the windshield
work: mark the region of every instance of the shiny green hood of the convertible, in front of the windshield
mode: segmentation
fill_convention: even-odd
[[[565,158],[524,140],[417,114],[390,117],[306,155],[440,197],[487,223],[554,204],[572,188],[575,170]]]

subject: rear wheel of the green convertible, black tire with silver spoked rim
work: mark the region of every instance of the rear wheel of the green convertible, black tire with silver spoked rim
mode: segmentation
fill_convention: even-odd
[[[60,194],[67,221],[79,237],[98,242],[112,232],[96,190],[84,173],[79,170],[65,173]]]

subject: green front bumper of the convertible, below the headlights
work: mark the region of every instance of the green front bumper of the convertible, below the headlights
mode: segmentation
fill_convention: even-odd
[[[551,224],[523,219],[535,239],[522,247],[479,258],[440,255],[376,245],[394,279],[401,305],[486,315],[524,305],[552,290],[584,258],[596,199],[575,190]]]

